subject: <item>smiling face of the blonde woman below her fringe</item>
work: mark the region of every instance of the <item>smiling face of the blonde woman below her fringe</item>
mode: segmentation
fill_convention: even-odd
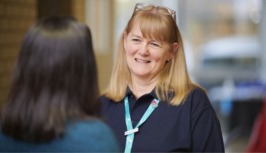
[[[129,33],[124,33],[124,48],[131,77],[158,77],[165,62],[173,55],[166,43],[144,38],[138,22]]]

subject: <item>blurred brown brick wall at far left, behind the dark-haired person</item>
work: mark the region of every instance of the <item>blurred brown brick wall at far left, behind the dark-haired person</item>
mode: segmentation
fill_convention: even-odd
[[[5,100],[21,41],[36,21],[35,0],[0,0],[0,107]]]

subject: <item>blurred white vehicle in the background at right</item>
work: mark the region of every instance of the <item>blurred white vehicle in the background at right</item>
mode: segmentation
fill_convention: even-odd
[[[222,86],[230,78],[239,81],[259,79],[261,48],[255,36],[229,36],[212,40],[200,47],[197,83],[207,90]]]

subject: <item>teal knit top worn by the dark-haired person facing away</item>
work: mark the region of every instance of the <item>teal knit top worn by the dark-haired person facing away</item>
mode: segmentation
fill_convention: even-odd
[[[0,132],[0,152],[121,152],[113,132],[99,120],[68,124],[61,139],[29,143]]]

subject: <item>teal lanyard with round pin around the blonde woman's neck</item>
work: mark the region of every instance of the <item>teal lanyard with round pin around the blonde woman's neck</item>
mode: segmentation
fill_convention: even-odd
[[[138,128],[141,124],[143,124],[147,120],[149,115],[151,115],[152,111],[158,106],[157,104],[155,104],[156,107],[152,106],[152,105],[154,105],[154,101],[157,104],[160,102],[160,100],[154,98],[151,105],[149,105],[149,108],[146,110],[146,112],[142,116],[141,120],[138,122],[135,129]],[[125,103],[125,124],[127,125],[127,130],[129,131],[129,130],[132,130],[133,127],[132,127],[131,117],[130,117],[130,113],[129,113],[128,97],[125,98],[124,103]],[[128,134],[127,139],[126,139],[126,143],[125,143],[125,153],[131,152],[133,140],[134,140],[134,133]]]

